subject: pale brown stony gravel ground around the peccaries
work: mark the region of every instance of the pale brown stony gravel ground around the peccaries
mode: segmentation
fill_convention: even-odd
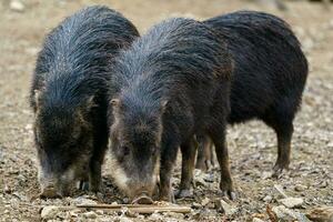
[[[333,12],[319,3],[289,2],[286,11],[253,1],[38,1],[23,4],[0,2],[0,221],[309,221],[305,214],[317,206],[333,206]],[[105,3],[131,19],[141,32],[172,16],[204,19],[239,9],[275,13],[291,23],[303,43],[311,72],[297,114],[292,141],[292,163],[281,179],[272,179],[276,158],[274,132],[262,122],[229,129],[232,174],[239,199],[219,194],[219,169],[195,171],[194,198],[178,200],[191,206],[188,214],[139,215],[123,209],[63,210],[77,203],[123,203],[112,185],[108,160],[103,169],[105,192],[77,193],[62,200],[40,200],[37,160],[32,142],[33,115],[28,89],[43,36],[65,16],[82,6]],[[333,6],[332,6],[333,7]],[[180,164],[173,186],[180,182]],[[161,203],[167,204],[167,203]],[[44,208],[50,205],[49,208]],[[271,219],[270,219],[271,215]]]

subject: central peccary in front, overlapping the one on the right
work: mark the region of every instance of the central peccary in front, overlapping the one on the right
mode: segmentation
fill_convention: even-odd
[[[111,162],[115,183],[131,200],[151,202],[158,176],[159,199],[173,200],[178,149],[183,170],[192,172],[195,133],[205,132],[224,148],[231,72],[223,38],[192,19],[162,21],[120,53],[111,81]],[[230,178],[224,158],[223,173]],[[192,175],[189,175],[182,178],[185,188]],[[231,178],[222,188],[233,191]]]

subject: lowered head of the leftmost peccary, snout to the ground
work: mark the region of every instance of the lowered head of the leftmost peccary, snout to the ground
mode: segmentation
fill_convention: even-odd
[[[36,91],[34,140],[39,157],[41,195],[69,195],[79,180],[88,180],[92,155],[89,111],[93,98],[54,101]]]

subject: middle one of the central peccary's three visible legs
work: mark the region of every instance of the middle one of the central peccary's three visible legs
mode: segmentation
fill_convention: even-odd
[[[193,180],[196,147],[198,143],[193,138],[181,145],[182,176],[181,176],[180,189],[179,192],[176,193],[176,198],[188,198],[193,194],[191,192],[191,182]]]

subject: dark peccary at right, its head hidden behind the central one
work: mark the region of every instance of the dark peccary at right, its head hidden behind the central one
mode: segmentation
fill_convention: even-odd
[[[307,77],[300,42],[285,21],[263,12],[239,11],[204,23],[224,37],[234,59],[228,123],[259,119],[274,129],[278,160],[273,170],[278,176],[290,164],[293,120]],[[209,148],[199,148],[198,157]],[[204,160],[198,159],[196,167],[205,168]]]

